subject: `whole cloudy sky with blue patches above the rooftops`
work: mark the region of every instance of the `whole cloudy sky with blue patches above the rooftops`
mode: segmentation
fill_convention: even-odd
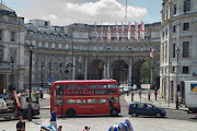
[[[54,25],[71,23],[120,23],[126,0],[3,0],[18,15],[49,20]],[[161,21],[162,0],[127,0],[128,21],[153,23]]]

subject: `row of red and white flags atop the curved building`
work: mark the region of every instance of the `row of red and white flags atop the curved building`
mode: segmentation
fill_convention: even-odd
[[[140,39],[144,39],[144,23],[143,22],[140,23],[140,28],[139,29],[138,29],[138,23],[135,22],[135,28],[134,29],[135,29],[135,39],[136,40],[138,40],[139,38]],[[123,22],[121,22],[121,32],[120,32],[120,34],[119,34],[119,31],[118,31],[117,23],[116,23],[116,31],[115,32],[116,32],[116,39],[117,40],[119,39],[119,35],[121,37],[124,37],[125,28],[124,28],[124,23]],[[128,32],[127,38],[130,39],[130,34],[131,34],[130,22],[128,22],[128,29],[127,29],[127,32]],[[140,33],[140,36],[138,36],[139,33]],[[107,29],[107,39],[108,40],[111,40],[111,38],[112,38],[111,34],[112,34],[111,25],[108,23],[108,29]],[[96,25],[96,22],[95,22],[95,35],[96,35],[96,39],[103,38],[103,22],[102,22],[102,26],[101,26],[101,35],[100,36],[99,36],[99,33],[97,33],[97,25]]]

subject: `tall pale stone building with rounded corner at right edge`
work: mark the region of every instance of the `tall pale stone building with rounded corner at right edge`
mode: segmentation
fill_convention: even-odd
[[[184,98],[183,81],[197,78],[197,1],[163,0],[160,86],[164,98]]]

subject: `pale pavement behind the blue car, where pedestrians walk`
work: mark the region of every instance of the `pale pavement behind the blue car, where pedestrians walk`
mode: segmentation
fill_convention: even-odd
[[[138,91],[135,91],[137,94],[134,95],[134,102],[131,102],[131,94],[129,93],[129,96],[125,96],[125,102],[128,104],[131,103],[140,103],[140,97],[138,94]],[[154,93],[151,92],[151,98],[150,100],[148,100],[148,91],[143,91],[141,94],[141,103],[149,103],[149,104],[153,104],[157,107],[161,107],[161,108],[170,108],[170,109],[176,109],[176,104],[175,103],[170,103],[165,102],[164,98],[161,97],[161,95],[158,95],[157,100],[154,99]],[[187,108],[185,108],[185,106],[179,107],[179,110],[188,110]]]

